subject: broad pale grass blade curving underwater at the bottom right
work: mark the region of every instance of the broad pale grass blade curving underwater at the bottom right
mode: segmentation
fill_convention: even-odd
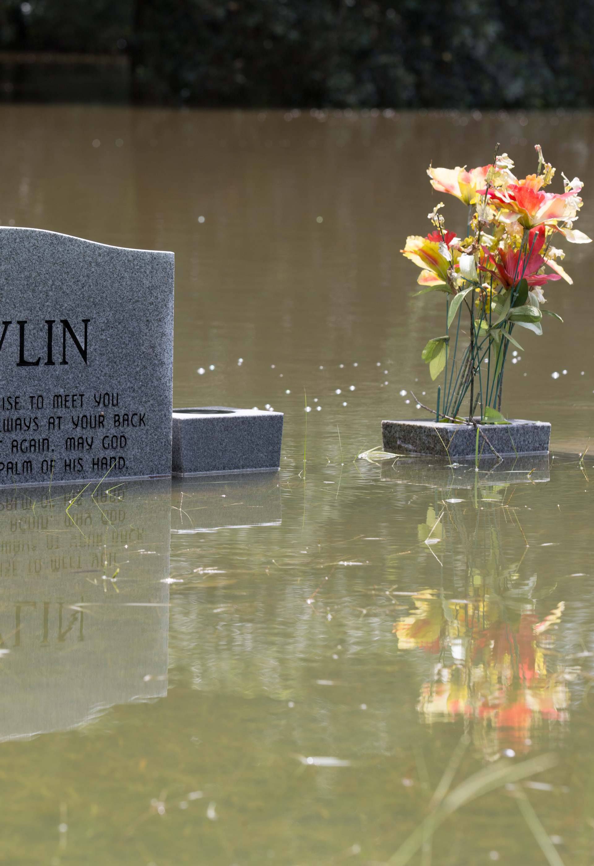
[[[413,830],[410,837],[405,840],[387,863],[389,863],[389,866],[404,866],[405,863],[409,863],[410,858],[416,854],[423,843],[427,843],[429,835],[432,835],[437,827],[443,824],[445,819],[460,809],[462,805],[469,803],[477,797],[481,797],[483,794],[495,791],[503,785],[519,782],[521,779],[527,779],[537,772],[549,770],[557,762],[557,755],[548,753],[539,755],[536,758],[529,758],[518,764],[513,764],[510,761],[500,761],[497,764],[483,767],[482,770],[475,772],[468,779],[461,782],[460,785],[457,785],[453,791],[449,792],[443,798],[442,803],[419,824],[416,830]]]

